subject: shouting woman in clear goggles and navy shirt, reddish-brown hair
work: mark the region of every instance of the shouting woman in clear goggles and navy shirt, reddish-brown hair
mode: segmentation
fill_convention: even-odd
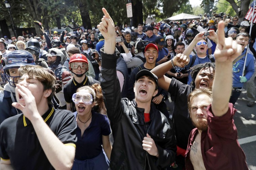
[[[77,89],[72,96],[77,123],[76,151],[72,170],[107,170],[111,154],[110,127],[99,84]],[[103,147],[103,150],[102,150]]]

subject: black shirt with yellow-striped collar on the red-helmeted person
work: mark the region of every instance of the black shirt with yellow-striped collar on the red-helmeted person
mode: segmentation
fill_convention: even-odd
[[[64,94],[65,101],[67,103],[70,103],[70,107],[73,112],[75,112],[76,109],[74,107],[74,102],[72,101],[72,96],[74,93],[76,93],[76,90],[83,86],[90,86],[92,84],[100,83],[99,81],[97,81],[95,79],[93,79],[93,82],[90,82],[88,77],[89,76],[85,76],[85,79],[81,83],[78,83],[77,81],[75,81],[74,78],[72,78],[64,86],[63,94]]]

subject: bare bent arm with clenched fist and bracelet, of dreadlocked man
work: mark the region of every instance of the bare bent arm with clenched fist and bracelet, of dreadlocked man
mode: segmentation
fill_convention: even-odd
[[[167,71],[170,71],[173,68],[173,66],[185,67],[185,65],[187,65],[188,63],[189,63],[189,58],[187,58],[187,56],[183,54],[177,54],[177,56],[175,56],[172,60],[167,61],[153,68],[151,72],[156,74],[156,76],[158,77],[159,86],[165,91],[168,91],[171,83],[171,78],[166,77],[164,74]]]

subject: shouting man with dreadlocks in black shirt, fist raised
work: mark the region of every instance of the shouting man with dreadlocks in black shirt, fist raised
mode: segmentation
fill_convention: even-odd
[[[187,106],[188,95],[194,90],[199,88],[212,88],[215,63],[203,63],[195,65],[190,69],[192,82],[191,85],[183,84],[175,78],[168,78],[164,74],[172,69],[174,66],[184,67],[188,64],[186,62],[179,65],[181,60],[184,61],[185,56],[178,54],[172,60],[155,67],[151,72],[157,75],[159,79],[159,86],[168,91],[171,95],[171,100],[174,102],[172,120],[174,121],[175,135],[177,139],[177,156],[175,163],[179,169],[185,167],[185,153],[188,145],[189,134],[194,125],[191,122]]]

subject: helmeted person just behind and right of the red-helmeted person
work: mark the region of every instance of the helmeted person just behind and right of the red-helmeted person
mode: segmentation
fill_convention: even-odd
[[[82,40],[80,45],[83,48],[82,54],[85,55],[87,60],[93,65],[95,80],[99,80],[99,62],[101,60],[99,52],[95,49],[91,49],[91,43],[88,40]]]

